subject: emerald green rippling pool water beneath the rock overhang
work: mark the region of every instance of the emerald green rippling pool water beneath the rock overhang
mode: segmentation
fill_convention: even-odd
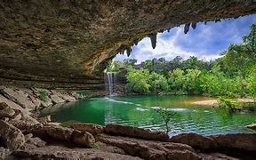
[[[255,113],[230,113],[225,108],[191,104],[209,100],[200,96],[127,96],[92,98],[45,108],[41,115],[51,115],[55,122],[76,121],[94,124],[123,124],[164,131],[164,121],[156,112],[165,108],[175,112],[169,134],[196,132],[202,135],[254,132],[244,128],[256,122]]]

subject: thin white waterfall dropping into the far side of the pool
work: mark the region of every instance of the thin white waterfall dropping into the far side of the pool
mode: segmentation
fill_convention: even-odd
[[[109,96],[115,96],[116,77],[116,72],[106,73],[106,88]]]

